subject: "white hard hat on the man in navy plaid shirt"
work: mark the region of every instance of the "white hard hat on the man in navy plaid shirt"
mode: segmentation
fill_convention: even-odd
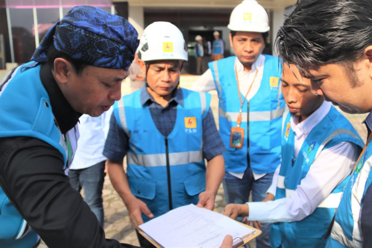
[[[181,31],[170,22],[154,22],[143,30],[138,58],[143,61],[181,59],[187,61],[187,46]]]

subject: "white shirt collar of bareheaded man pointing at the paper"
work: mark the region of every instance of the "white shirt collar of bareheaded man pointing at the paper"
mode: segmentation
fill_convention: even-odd
[[[331,103],[324,101],[323,104],[314,111],[304,121],[298,123],[298,117],[291,117],[291,127],[296,136],[308,135],[310,131],[327,115],[331,109]]]

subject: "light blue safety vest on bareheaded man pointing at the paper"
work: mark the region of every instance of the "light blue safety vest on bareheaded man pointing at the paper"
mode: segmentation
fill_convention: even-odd
[[[362,149],[363,141],[350,122],[333,106],[327,115],[310,131],[297,158],[294,158],[295,134],[291,128],[291,114],[286,116],[282,134],[282,165],[278,176],[275,200],[290,197],[304,179],[321,151],[340,142],[352,142]],[[336,186],[306,218],[295,222],[277,222],[271,225],[272,247],[324,247],[324,235],[339,205],[343,188],[349,176]]]

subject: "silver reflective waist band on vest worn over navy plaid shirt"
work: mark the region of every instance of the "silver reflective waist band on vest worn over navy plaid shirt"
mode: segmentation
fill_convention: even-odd
[[[127,154],[128,164],[135,164],[146,167],[155,166],[166,166],[166,154],[148,154],[148,155],[136,155],[133,152]],[[203,160],[202,151],[190,151],[190,152],[173,152],[169,154],[170,165],[180,165],[200,162]]]

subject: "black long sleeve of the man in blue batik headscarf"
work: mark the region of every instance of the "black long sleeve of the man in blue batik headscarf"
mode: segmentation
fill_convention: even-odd
[[[69,183],[63,158],[35,138],[0,138],[0,185],[48,247],[133,247],[105,239],[94,213]]]

